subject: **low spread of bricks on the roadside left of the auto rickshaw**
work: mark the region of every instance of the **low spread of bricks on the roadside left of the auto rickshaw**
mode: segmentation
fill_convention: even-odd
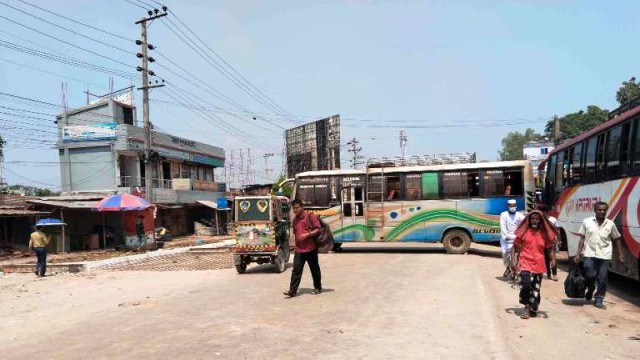
[[[219,270],[233,267],[233,255],[230,249],[189,251],[180,254],[159,256],[136,262],[106,267],[119,271],[194,271]]]

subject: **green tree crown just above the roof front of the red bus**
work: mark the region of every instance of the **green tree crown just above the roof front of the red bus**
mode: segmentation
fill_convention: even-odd
[[[560,139],[571,139],[585,131],[604,123],[609,119],[609,110],[600,109],[595,105],[587,106],[587,110],[580,110],[575,113],[560,117]],[[555,138],[554,120],[549,120],[545,126],[545,133],[548,138]]]

